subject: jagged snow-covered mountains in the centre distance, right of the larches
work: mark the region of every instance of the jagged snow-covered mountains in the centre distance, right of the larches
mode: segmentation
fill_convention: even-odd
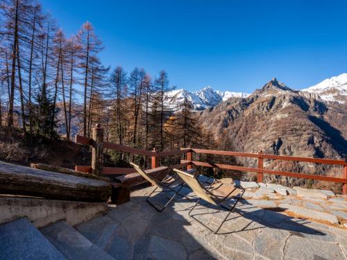
[[[167,92],[167,106],[171,110],[179,110],[187,98],[187,101],[192,105],[193,110],[205,110],[207,107],[215,107],[222,101],[229,98],[245,98],[249,94],[242,92],[220,92],[214,91],[212,87],[208,86],[197,92],[189,92],[186,89],[175,89]]]

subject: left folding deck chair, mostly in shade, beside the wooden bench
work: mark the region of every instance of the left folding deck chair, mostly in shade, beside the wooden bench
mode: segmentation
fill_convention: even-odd
[[[153,189],[153,191],[149,194],[149,196],[147,196],[146,200],[147,202],[149,202],[149,204],[151,204],[156,210],[158,211],[163,211],[167,205],[169,205],[169,203],[174,200],[174,198],[176,197],[176,195],[180,195],[179,192],[180,190],[183,188],[183,185],[185,184],[185,182],[183,182],[183,180],[179,177],[174,177],[171,175],[167,175],[167,177],[164,177],[164,179],[160,182],[159,180],[155,180],[155,178],[151,177],[150,175],[148,175],[147,173],[145,173],[141,167],[139,167],[136,164],[133,164],[133,162],[130,162],[130,164],[135,168],[135,170],[137,171],[137,173],[139,173],[140,175],[142,175],[142,177],[144,177],[145,180],[149,181],[155,188]],[[176,189],[173,189],[173,185],[176,185]],[[155,205],[154,203],[151,202],[151,200],[149,200],[149,198],[151,197],[151,195],[158,189],[162,189],[162,192],[172,192],[174,193],[173,196],[171,196],[169,198],[169,200],[167,201],[167,203],[162,206],[162,207],[158,207],[157,205]],[[183,195],[180,195],[183,196]]]

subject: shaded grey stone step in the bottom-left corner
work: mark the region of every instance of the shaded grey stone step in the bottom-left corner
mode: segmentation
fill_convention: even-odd
[[[27,219],[0,225],[0,259],[65,259]]]

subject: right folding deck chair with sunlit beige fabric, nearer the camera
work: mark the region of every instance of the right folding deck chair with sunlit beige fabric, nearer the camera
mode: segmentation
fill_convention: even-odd
[[[204,227],[210,229],[211,232],[214,234],[217,234],[219,232],[219,229],[221,229],[223,223],[226,222],[228,216],[232,212],[232,209],[235,208],[237,205],[237,202],[242,198],[244,195],[244,188],[237,184],[225,184],[222,182],[213,182],[210,187],[205,188],[201,185],[198,180],[194,177],[194,175],[191,175],[189,173],[185,173],[184,171],[180,171],[176,168],[174,168],[174,171],[182,178],[182,180],[194,191],[196,196],[198,196],[198,201],[196,204],[192,207],[192,209],[189,211],[189,216],[191,218],[194,218],[198,223],[203,225]],[[223,205],[223,202],[227,198],[235,198],[236,201],[234,204],[230,205],[230,208],[226,207],[226,205]],[[217,207],[221,207],[223,209],[228,209],[228,214],[223,219],[222,223],[219,225],[216,231],[212,230],[207,225],[203,224],[200,220],[194,217],[192,214],[192,211],[194,208],[200,203],[201,200],[205,200],[206,202],[209,202],[212,205],[215,205]]]

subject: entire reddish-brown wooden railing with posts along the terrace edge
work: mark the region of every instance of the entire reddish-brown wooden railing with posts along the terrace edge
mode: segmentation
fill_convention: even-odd
[[[99,126],[99,127],[98,127]],[[180,164],[176,166],[170,166],[170,168],[192,168],[192,166],[204,166],[212,168],[221,168],[226,170],[246,171],[257,173],[257,182],[262,182],[264,174],[282,175],[288,177],[305,178],[311,180],[321,180],[327,182],[337,182],[343,184],[343,194],[347,194],[347,157],[344,160],[339,159],[319,159],[310,157],[291,157],[282,155],[265,155],[263,153],[240,153],[224,150],[204,150],[195,148],[181,148],[180,150],[156,152],[155,150],[143,150],[138,148],[131,148],[129,146],[122,146],[119,144],[113,144],[110,142],[103,142],[103,131],[100,125],[94,129],[93,138],[76,136],[76,143],[92,146],[92,166],[76,166],[76,171],[90,172],[96,175],[124,175],[127,173],[133,173],[133,168],[118,168],[118,167],[103,167],[103,148],[112,150],[118,150],[124,153],[130,153],[135,155],[145,155],[151,157],[151,168],[159,166],[158,157],[173,156],[173,155],[186,155],[185,159],[180,161]],[[208,162],[194,161],[193,153],[208,154],[208,155],[228,155],[238,157],[248,157],[257,159],[257,167],[245,167],[235,166],[229,164],[214,164]],[[341,177],[329,177],[323,175],[312,175],[307,173],[293,173],[288,171],[275,171],[264,168],[264,159],[273,159],[280,161],[291,162],[308,162],[314,164],[330,164],[343,166],[343,173]]]

